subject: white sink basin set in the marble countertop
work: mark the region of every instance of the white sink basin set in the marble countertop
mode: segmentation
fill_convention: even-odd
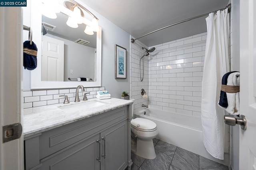
[[[102,106],[105,104],[107,104],[107,103],[100,102],[98,100],[92,100],[92,101],[70,104],[70,105],[66,105],[66,106],[59,106],[58,108],[60,108],[64,111],[68,111],[68,112],[75,112],[75,111],[80,111],[80,110],[87,110],[92,107],[98,107],[98,106]]]

